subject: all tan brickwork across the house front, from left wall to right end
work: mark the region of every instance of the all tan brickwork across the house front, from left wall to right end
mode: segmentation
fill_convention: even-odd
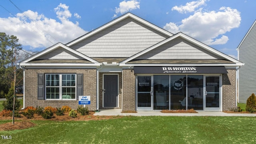
[[[236,106],[236,70],[228,69],[228,74],[222,75],[222,110],[229,110]],[[26,69],[25,70],[25,107],[27,106],[70,106],[78,107],[78,100],[38,100],[37,99],[37,76],[38,73],[52,74],[84,74],[83,93],[91,96],[90,110],[96,110],[96,69]],[[133,70],[124,69],[122,72],[100,72],[99,74],[99,108],[102,103],[103,74],[118,74],[118,107],[112,109],[136,110],[136,76]],[[123,101],[122,101],[123,100]]]

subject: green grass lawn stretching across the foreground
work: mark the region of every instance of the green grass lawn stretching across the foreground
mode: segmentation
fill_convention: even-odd
[[[0,131],[5,144],[255,144],[255,117],[125,116],[112,120],[34,120],[25,130]],[[6,122],[6,121],[5,121]],[[0,121],[0,123],[2,123]]]

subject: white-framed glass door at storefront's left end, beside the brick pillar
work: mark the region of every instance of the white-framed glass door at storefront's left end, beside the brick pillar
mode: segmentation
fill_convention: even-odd
[[[137,110],[152,110],[151,76],[138,76],[137,79]]]

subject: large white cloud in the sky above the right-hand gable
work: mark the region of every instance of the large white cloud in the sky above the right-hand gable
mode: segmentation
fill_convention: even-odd
[[[207,45],[215,45],[228,42],[228,36],[224,34],[233,28],[238,28],[240,22],[241,16],[238,10],[221,7],[217,12],[196,11],[193,15],[183,19],[180,25],[168,23],[164,29],[173,33],[181,31]]]

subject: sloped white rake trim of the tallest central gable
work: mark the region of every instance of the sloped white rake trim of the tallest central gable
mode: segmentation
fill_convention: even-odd
[[[139,18],[138,16],[135,16],[134,14],[127,13],[127,14],[124,14],[123,16],[120,16],[119,18],[116,18],[115,20],[112,20],[111,22],[108,22],[107,24],[105,24],[105,25],[103,25],[103,26],[101,26],[101,27],[99,27],[99,28],[97,28],[97,29],[95,29],[91,32],[88,32],[84,36],[81,36],[80,38],[78,38],[78,39],[76,39],[72,42],[67,43],[66,46],[72,46],[72,45],[74,45],[74,44],[76,44],[76,43],[78,43],[78,42],[96,34],[97,32],[100,32],[101,30],[104,30],[105,28],[108,28],[109,26],[112,26],[113,24],[116,24],[117,22],[120,22],[121,20],[124,20],[125,18],[128,18],[128,17],[131,17],[131,18],[145,24],[146,26],[149,26],[149,27],[151,27],[151,28],[153,28],[153,29],[155,29],[159,32],[162,32],[162,33],[166,34],[167,36],[173,36],[172,33],[168,32],[168,31],[166,31],[166,30],[164,30],[164,29],[162,29],[162,28],[160,28],[160,27],[158,27],[154,24],[151,24],[150,22],[147,22],[146,20],[143,20],[142,18]]]

